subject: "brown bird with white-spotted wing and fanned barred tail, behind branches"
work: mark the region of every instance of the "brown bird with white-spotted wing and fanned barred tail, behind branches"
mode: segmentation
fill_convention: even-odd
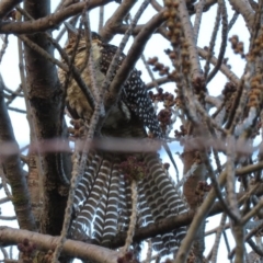
[[[69,39],[65,52],[71,58],[78,31],[68,23],[66,27]],[[90,53],[93,57],[93,75],[98,89],[102,87],[116,52],[116,46],[103,42],[99,34],[91,32]],[[84,31],[81,31],[73,64],[80,70],[88,89],[91,89],[91,69],[87,66],[85,54],[87,41]],[[125,54],[122,53],[114,76],[125,58]],[[58,70],[62,84],[67,75],[62,69]],[[83,119],[89,124],[93,114],[92,105],[72,78],[67,88],[66,105],[72,118]],[[146,84],[140,78],[140,71],[135,68],[103,123],[101,137],[140,140],[148,138],[147,129],[156,139],[162,138]],[[118,232],[127,231],[132,213],[132,188],[127,171],[123,169],[125,167],[137,169],[136,172],[140,175],[142,173],[141,178],[136,179],[136,227],[148,226],[187,210],[186,203],[175,190],[174,182],[164,170],[158,152],[129,152],[128,147],[124,148],[123,152],[114,149],[90,150],[84,174],[76,190],[70,238],[111,247],[111,241]],[[178,250],[185,233],[186,227],[181,227],[172,232],[159,235],[152,238],[152,247],[161,255],[169,254]]]

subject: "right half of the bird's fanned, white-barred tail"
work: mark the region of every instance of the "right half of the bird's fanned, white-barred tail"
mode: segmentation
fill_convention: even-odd
[[[149,170],[149,174],[142,182],[145,184],[146,199],[151,209],[153,220],[157,221],[186,211],[186,205],[175,191],[171,179],[165,174],[158,155],[145,155],[145,163]],[[185,233],[186,227],[182,227],[174,229],[172,233],[162,235],[163,247],[161,248],[161,254],[176,251]]]

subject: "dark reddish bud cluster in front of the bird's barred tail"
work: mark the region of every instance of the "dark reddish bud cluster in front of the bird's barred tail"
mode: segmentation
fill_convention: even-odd
[[[145,162],[139,161],[136,156],[128,157],[126,161],[123,161],[119,164],[119,169],[123,171],[124,176],[129,181],[140,181],[148,173]]]

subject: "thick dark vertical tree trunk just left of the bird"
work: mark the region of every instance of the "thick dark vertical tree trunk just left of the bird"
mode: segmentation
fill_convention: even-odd
[[[47,0],[38,2],[25,0],[24,8],[35,19],[43,18],[50,12]],[[50,56],[54,56],[54,47],[45,34],[27,35],[27,37]],[[24,55],[32,122],[41,149],[45,144],[43,140],[62,137],[62,91],[54,64],[26,45]],[[42,185],[44,185],[44,193],[41,194],[44,196],[43,209],[45,211],[41,218],[41,229],[45,233],[59,235],[67,202],[67,197],[60,194],[59,155],[39,153],[39,176],[43,180]]]

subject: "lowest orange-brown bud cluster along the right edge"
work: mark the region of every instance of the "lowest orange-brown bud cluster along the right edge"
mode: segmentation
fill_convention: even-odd
[[[249,103],[248,107],[255,107],[260,108],[262,103],[262,95],[263,95],[263,84],[262,82],[262,75],[256,75],[251,78],[250,85],[251,90],[249,93]]]

